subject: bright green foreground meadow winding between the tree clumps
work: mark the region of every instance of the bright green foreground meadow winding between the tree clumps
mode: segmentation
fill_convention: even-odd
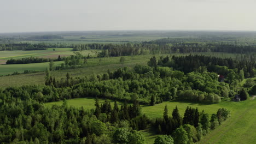
[[[104,100],[101,99],[100,103]],[[75,107],[83,106],[85,109],[94,109],[95,99],[93,98],[77,98],[68,100],[69,105]],[[62,101],[46,103],[46,106],[61,105]],[[112,101],[113,104],[113,101]],[[120,104],[120,103],[119,103]],[[211,131],[203,137],[203,140],[197,143],[255,143],[256,142],[256,100],[247,100],[240,102],[223,101],[218,104],[200,104],[186,103],[180,101],[165,101],[155,106],[142,106],[142,112],[150,118],[162,117],[164,107],[167,105],[168,114],[171,116],[172,110],[178,106],[179,113],[183,113],[187,106],[198,107],[199,111],[204,110],[206,113],[216,113],[219,108],[225,107],[230,110],[231,117],[222,125]],[[155,135],[150,130],[143,130],[147,143],[153,143]]]

